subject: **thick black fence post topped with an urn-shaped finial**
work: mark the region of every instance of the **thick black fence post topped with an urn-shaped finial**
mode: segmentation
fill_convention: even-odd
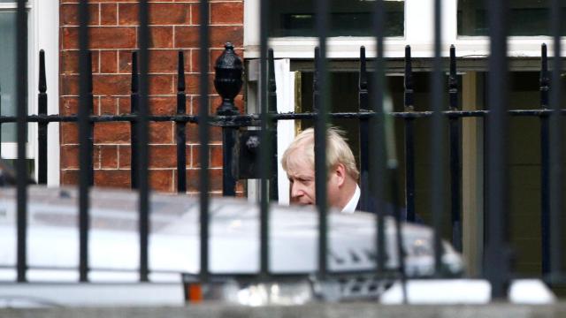
[[[234,98],[240,93],[243,72],[241,58],[233,51],[232,43],[225,45],[225,50],[216,60],[214,66],[216,71],[214,87],[222,97],[222,103],[218,106],[218,116],[240,115],[240,111],[234,105]],[[200,105],[207,108],[208,105]],[[225,196],[236,194],[236,178],[233,174],[234,156],[233,148],[236,145],[238,133],[237,126],[231,124],[222,125],[222,193]]]

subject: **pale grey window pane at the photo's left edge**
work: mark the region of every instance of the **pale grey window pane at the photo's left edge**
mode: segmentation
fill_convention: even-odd
[[[2,0],[0,0],[2,1]],[[4,2],[4,1],[3,1]],[[16,12],[0,11],[0,113],[16,114]],[[2,125],[2,141],[16,141],[16,125]]]

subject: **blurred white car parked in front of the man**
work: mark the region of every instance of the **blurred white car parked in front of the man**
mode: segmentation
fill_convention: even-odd
[[[0,284],[16,279],[15,197],[14,188],[0,188]],[[129,190],[95,188],[90,191],[90,281],[116,283],[138,279],[138,198],[138,193]],[[184,274],[185,280],[190,280],[199,273],[199,214],[198,197],[150,194],[151,282],[180,283],[183,280],[180,274]],[[77,282],[78,219],[76,188],[28,188],[27,277],[30,282]],[[325,299],[375,296],[393,279],[373,274],[376,267],[376,221],[372,214],[340,214],[331,210],[328,216],[328,270],[344,274],[331,274],[325,281],[318,280],[316,276],[316,208],[273,204],[269,221],[270,272],[310,277],[308,284],[300,284],[303,290],[310,289],[307,292],[310,296]],[[399,256],[394,219],[386,217],[385,225],[386,269],[395,273],[399,267]],[[402,223],[406,276],[432,276],[432,238],[430,228]],[[462,274],[461,256],[446,242],[442,246],[443,272],[452,276]],[[244,199],[210,198],[210,272],[232,277],[230,284],[227,281],[221,284],[224,295],[231,288],[240,292],[248,288],[249,294],[252,284],[239,277],[253,276],[258,271],[258,205]],[[272,280],[270,284],[279,283]],[[281,287],[281,284],[278,286]],[[272,290],[268,289],[268,293]],[[246,302],[237,298],[234,301]]]

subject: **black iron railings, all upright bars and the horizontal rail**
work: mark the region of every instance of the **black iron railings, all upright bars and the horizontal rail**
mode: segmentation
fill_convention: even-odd
[[[261,11],[267,10],[269,1],[261,1]],[[90,63],[90,53],[88,51],[88,1],[80,1],[80,107],[78,115],[59,116],[47,114],[47,94],[45,82],[45,61],[44,54],[40,52],[40,85],[38,95],[38,114],[27,115],[26,113],[26,90],[27,83],[27,44],[25,41],[18,42],[18,115],[0,116],[0,125],[4,123],[18,123],[18,160],[16,170],[18,188],[18,258],[17,269],[19,282],[27,280],[27,176],[26,172],[26,135],[27,124],[37,123],[38,125],[38,183],[47,182],[47,127],[50,124],[62,122],[76,122],[80,127],[80,281],[88,281],[88,209],[89,209],[89,188],[94,184],[93,178],[93,130],[96,123],[101,122],[129,122],[131,125],[131,147],[137,155],[131,156],[131,179],[132,187],[140,193],[139,213],[140,213],[140,281],[149,279],[149,256],[148,256],[148,233],[149,233],[149,182],[148,182],[148,125],[149,122],[169,121],[175,123],[176,144],[177,144],[177,191],[185,193],[187,191],[186,174],[186,129],[187,125],[198,125],[199,138],[201,144],[200,163],[200,201],[201,201],[201,279],[206,281],[210,278],[209,272],[209,185],[208,176],[209,163],[209,127],[216,125],[222,127],[223,141],[223,193],[224,195],[234,195],[236,179],[233,166],[238,158],[233,156],[233,148],[236,145],[239,132],[249,126],[261,128],[259,140],[267,142],[259,143],[259,160],[261,181],[261,238],[260,247],[260,273],[261,277],[270,276],[269,266],[269,208],[268,202],[276,199],[277,193],[277,174],[276,163],[277,154],[273,155],[276,149],[277,123],[280,120],[295,119],[314,119],[315,120],[315,148],[316,148],[316,185],[318,198],[317,208],[319,210],[319,249],[318,249],[318,274],[325,277],[332,273],[328,272],[327,266],[327,207],[325,189],[325,127],[329,118],[351,118],[360,123],[360,142],[361,142],[361,188],[362,188],[362,207],[367,207],[370,197],[382,198],[386,186],[393,191],[392,198],[394,207],[397,208],[396,218],[401,218],[399,207],[399,193],[396,193],[396,174],[398,170],[396,157],[391,152],[386,151],[386,145],[393,143],[394,137],[386,132],[386,116],[399,118],[398,122],[404,127],[404,146],[405,146],[405,202],[407,208],[407,219],[414,221],[416,218],[415,206],[415,133],[414,124],[417,120],[428,118],[431,123],[432,131],[432,226],[435,233],[440,233],[443,224],[441,220],[444,216],[442,205],[443,180],[445,167],[439,158],[444,154],[443,144],[444,129],[447,128],[449,149],[449,182],[450,182],[450,229],[452,230],[452,243],[455,248],[462,250],[463,226],[462,223],[462,183],[461,170],[462,158],[459,148],[461,148],[462,136],[461,125],[465,117],[478,117],[486,120],[486,145],[487,145],[487,182],[486,182],[486,254],[484,257],[483,276],[486,276],[493,284],[493,296],[502,297],[504,287],[509,282],[511,275],[509,247],[507,246],[507,229],[509,210],[507,204],[507,183],[505,176],[505,140],[507,136],[507,122],[509,117],[539,117],[541,123],[540,131],[540,153],[541,153],[541,228],[542,228],[542,274],[545,277],[560,277],[561,272],[561,244],[560,238],[562,229],[559,222],[552,222],[560,218],[562,201],[560,193],[562,190],[562,166],[561,166],[561,121],[566,110],[562,110],[561,91],[552,89],[559,87],[560,72],[552,72],[549,79],[547,47],[542,46],[541,50],[541,71],[540,71],[540,108],[537,110],[507,110],[509,104],[507,92],[507,47],[506,29],[504,21],[505,5],[502,1],[491,1],[489,3],[490,20],[496,21],[490,26],[491,56],[489,57],[489,110],[458,110],[457,100],[459,88],[456,79],[456,51],[455,47],[450,48],[447,92],[442,86],[442,58],[440,57],[440,19],[435,23],[435,42],[432,72],[432,110],[417,111],[414,108],[414,87],[412,80],[410,47],[405,50],[405,74],[404,74],[404,111],[386,114],[384,110],[384,87],[385,87],[385,57],[383,51],[383,2],[376,1],[374,12],[374,25],[377,43],[377,57],[375,58],[375,69],[372,72],[374,80],[371,87],[368,84],[368,72],[366,70],[365,50],[360,50],[360,78],[359,78],[359,110],[358,112],[330,113],[328,110],[329,88],[328,88],[328,65],[325,45],[320,46],[315,52],[316,72],[314,77],[314,112],[312,113],[277,113],[276,107],[276,86],[273,68],[273,52],[267,47],[267,14],[261,15],[261,65],[260,65],[260,113],[241,114],[234,106],[233,99],[240,93],[242,86],[243,64],[231,44],[226,44],[226,50],[215,64],[216,78],[214,85],[218,94],[222,97],[222,103],[211,115],[207,107],[209,104],[209,82],[208,74],[203,71],[199,78],[200,105],[198,115],[187,115],[186,92],[184,78],[184,56],[179,52],[178,66],[178,92],[177,110],[172,115],[151,115],[148,108],[149,80],[148,80],[148,4],[147,0],[140,1],[140,29],[139,51],[132,56],[132,92],[131,92],[131,112],[130,114],[118,116],[95,116],[92,114],[92,73]],[[18,30],[26,32],[25,23],[25,1],[18,1]],[[317,32],[319,41],[325,43],[327,32],[326,14],[328,11],[327,2],[317,1]],[[434,2],[435,16],[440,16],[440,0]],[[553,7],[553,30],[554,30],[554,58],[553,69],[561,70],[560,58],[560,12],[559,1],[552,2]],[[206,51],[209,48],[209,27],[208,15],[209,6],[207,1],[201,0],[200,14],[203,24],[200,26],[200,49]],[[25,39],[19,36],[19,39]],[[210,64],[207,54],[200,54],[200,70],[208,70]],[[443,105],[443,96],[447,93],[449,104]],[[550,94],[550,96],[549,96]],[[257,145],[255,145],[257,146]],[[381,201],[379,201],[381,202]],[[385,211],[384,206],[379,211]],[[384,260],[385,237],[383,235],[383,212],[376,214],[376,227],[378,227],[376,238],[377,255],[376,271],[385,269]],[[397,233],[401,235],[400,223],[397,223]],[[402,254],[401,239],[399,242],[399,252]],[[551,248],[552,246],[552,248]],[[435,236],[435,260],[437,273],[440,276],[440,235]],[[402,270],[403,263],[400,264]]]

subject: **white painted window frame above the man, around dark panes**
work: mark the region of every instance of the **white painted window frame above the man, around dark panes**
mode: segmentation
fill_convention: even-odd
[[[390,0],[397,1],[397,0]],[[259,57],[259,3],[260,0],[244,2],[244,57]],[[385,39],[386,57],[403,57],[404,47],[411,46],[412,57],[433,57],[434,0],[405,0],[405,34],[402,37]],[[454,44],[458,57],[487,57],[489,38],[486,36],[458,36],[457,0],[442,2],[442,56],[449,56],[449,47]],[[316,37],[281,37],[270,39],[269,45],[276,58],[313,58],[317,46]],[[546,42],[549,54],[552,39],[549,36],[510,36],[509,57],[539,57],[540,44]],[[562,41],[566,53],[566,42]],[[330,58],[359,58],[359,47],[366,47],[366,56],[375,57],[375,39],[372,37],[340,36],[327,39],[327,56]]]

